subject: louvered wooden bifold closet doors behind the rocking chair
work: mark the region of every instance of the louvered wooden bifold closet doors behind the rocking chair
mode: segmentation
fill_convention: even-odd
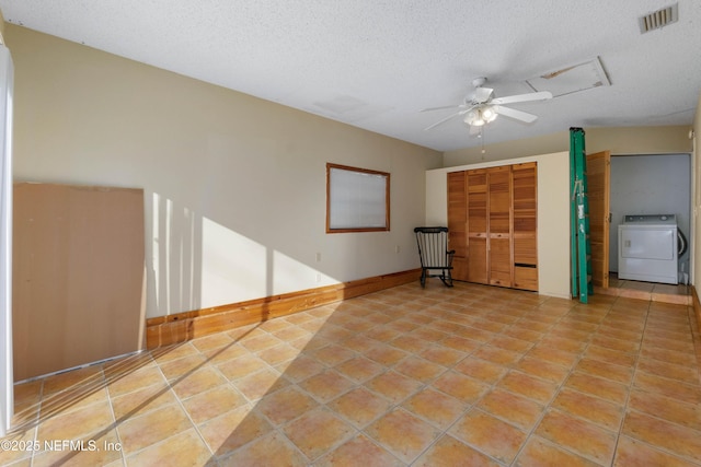
[[[453,279],[538,290],[536,162],[448,173]]]

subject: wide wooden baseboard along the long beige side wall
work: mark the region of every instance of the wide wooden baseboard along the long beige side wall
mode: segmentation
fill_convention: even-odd
[[[421,269],[412,269],[318,289],[149,318],[146,320],[146,347],[147,349],[156,349],[227,329],[263,323],[278,316],[418,281],[420,277]]]

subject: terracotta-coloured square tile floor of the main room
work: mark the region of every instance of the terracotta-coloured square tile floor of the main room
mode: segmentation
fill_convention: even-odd
[[[690,310],[406,284],[21,384],[0,464],[698,466]]]

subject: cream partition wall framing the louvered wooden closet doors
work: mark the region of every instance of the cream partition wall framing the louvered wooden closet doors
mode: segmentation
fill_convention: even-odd
[[[426,172],[426,225],[448,224],[447,173],[538,163],[538,288],[543,295],[570,294],[570,153],[558,152]]]

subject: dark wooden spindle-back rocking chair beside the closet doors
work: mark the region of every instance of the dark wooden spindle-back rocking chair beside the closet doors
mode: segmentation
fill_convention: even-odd
[[[456,252],[448,250],[448,227],[416,227],[414,233],[421,257],[421,287],[426,287],[426,278],[440,278],[446,287],[452,287],[452,256]]]

